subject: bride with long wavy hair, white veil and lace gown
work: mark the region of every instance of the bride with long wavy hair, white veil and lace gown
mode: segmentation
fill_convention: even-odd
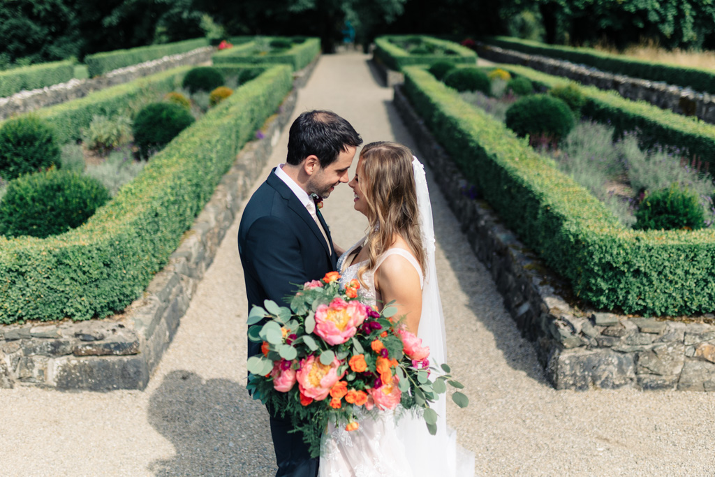
[[[368,235],[337,262],[341,282],[360,280],[363,302],[395,301],[408,330],[444,363],[445,331],[434,259],[432,210],[425,172],[410,149],[394,142],[363,147],[349,183],[355,210],[368,217]],[[384,410],[360,419],[356,431],[329,426],[322,443],[321,477],[473,476],[474,457],[456,444],[445,421],[445,395],[432,407],[438,433],[413,415]]]

